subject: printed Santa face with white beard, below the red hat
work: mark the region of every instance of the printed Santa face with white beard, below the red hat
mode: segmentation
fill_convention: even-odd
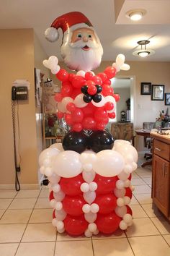
[[[64,35],[61,55],[69,69],[96,69],[99,67],[102,54],[102,45],[91,28],[79,28]]]

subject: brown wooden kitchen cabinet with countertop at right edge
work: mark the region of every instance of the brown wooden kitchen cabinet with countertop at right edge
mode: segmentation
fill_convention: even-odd
[[[153,135],[153,203],[170,220],[170,139]]]

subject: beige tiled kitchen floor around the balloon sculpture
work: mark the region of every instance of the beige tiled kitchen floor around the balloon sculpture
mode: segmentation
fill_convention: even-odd
[[[133,226],[92,238],[56,234],[48,189],[0,190],[0,256],[169,256],[170,224],[152,206],[151,168],[138,168]]]

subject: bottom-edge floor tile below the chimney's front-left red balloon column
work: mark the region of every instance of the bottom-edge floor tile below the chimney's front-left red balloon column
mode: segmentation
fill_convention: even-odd
[[[57,242],[55,256],[93,256],[90,241]]]

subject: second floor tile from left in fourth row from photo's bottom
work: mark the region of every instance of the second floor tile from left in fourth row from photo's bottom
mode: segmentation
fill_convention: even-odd
[[[9,209],[32,209],[37,198],[16,198],[13,200]]]

